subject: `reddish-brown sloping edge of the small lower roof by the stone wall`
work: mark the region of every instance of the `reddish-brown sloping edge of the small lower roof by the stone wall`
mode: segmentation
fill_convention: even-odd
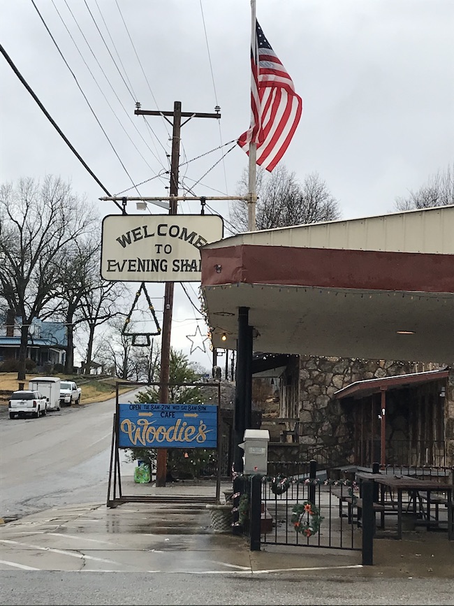
[[[397,375],[397,377],[383,377],[381,379],[368,379],[365,381],[356,381],[335,391],[335,398],[365,398],[372,394],[379,394],[380,391],[388,391],[389,389],[401,389],[411,385],[420,383],[429,383],[447,379],[449,369],[427,370],[425,373],[412,373],[411,375]]]

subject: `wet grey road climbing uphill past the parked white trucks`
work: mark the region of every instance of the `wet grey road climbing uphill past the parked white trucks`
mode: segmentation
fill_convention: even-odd
[[[1,405],[0,517],[105,502],[114,412],[115,398],[38,419],[9,419]]]

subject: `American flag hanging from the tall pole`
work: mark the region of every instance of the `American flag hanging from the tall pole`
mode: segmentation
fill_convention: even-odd
[[[251,43],[251,126],[237,140],[249,154],[257,145],[257,164],[272,171],[295,134],[302,113],[302,99],[256,21]]]

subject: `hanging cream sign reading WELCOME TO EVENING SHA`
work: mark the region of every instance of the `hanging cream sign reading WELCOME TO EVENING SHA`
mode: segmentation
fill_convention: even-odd
[[[223,233],[219,215],[108,215],[101,276],[112,282],[200,282],[200,247]]]

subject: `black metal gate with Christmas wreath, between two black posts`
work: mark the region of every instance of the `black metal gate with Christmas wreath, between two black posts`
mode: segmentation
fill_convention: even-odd
[[[374,521],[363,528],[369,513],[374,516],[372,494],[370,508],[365,495],[358,508],[356,482],[317,474],[316,461],[271,466],[273,475],[234,479],[234,524],[250,537],[252,550],[262,544],[349,549],[367,560],[370,549],[372,558]]]

